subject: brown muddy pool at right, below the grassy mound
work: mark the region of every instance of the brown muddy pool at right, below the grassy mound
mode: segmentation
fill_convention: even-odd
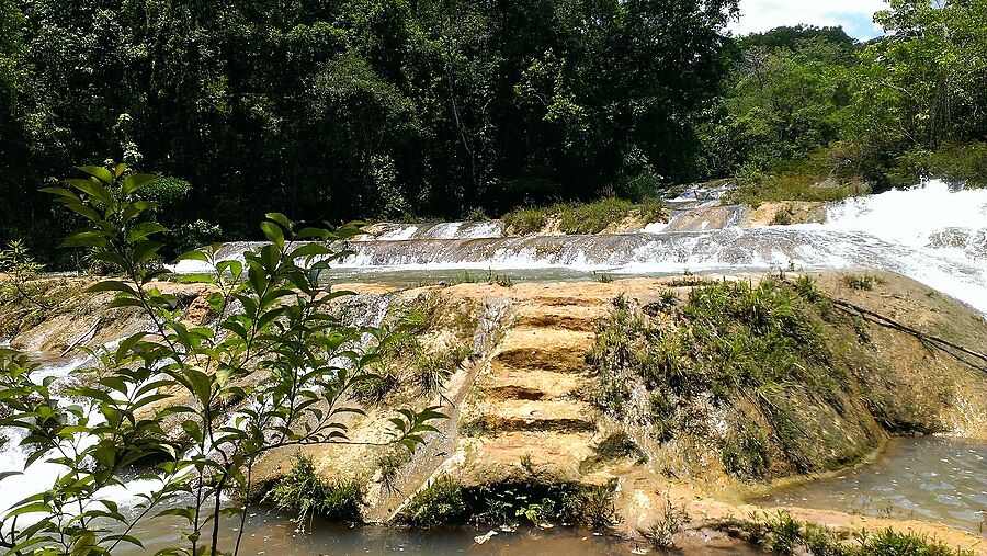
[[[896,439],[871,465],[756,502],[939,522],[987,538],[987,442]]]

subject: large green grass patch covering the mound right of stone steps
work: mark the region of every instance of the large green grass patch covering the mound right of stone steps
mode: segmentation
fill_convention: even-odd
[[[843,451],[846,459],[861,455],[819,417],[846,413],[849,374],[831,349],[828,300],[812,280],[697,283],[678,306],[653,305],[619,297],[598,325],[592,398],[603,411],[666,442],[699,434],[694,410],[703,400],[753,406],[753,413],[734,411],[726,436],[715,440],[724,469],[742,480],[769,478],[773,444],[798,472],[843,463]],[[646,397],[632,396],[638,385]],[[828,447],[839,446],[840,457],[816,452],[822,440],[836,442]]]

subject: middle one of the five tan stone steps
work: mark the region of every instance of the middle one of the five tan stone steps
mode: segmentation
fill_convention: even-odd
[[[480,385],[488,399],[554,400],[587,390],[592,377],[576,373],[514,368],[495,361],[494,375]]]

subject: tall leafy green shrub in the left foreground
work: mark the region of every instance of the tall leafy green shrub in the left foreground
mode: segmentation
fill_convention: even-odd
[[[207,300],[217,315],[211,326],[185,324],[179,299],[156,281],[164,271],[155,238],[166,230],[141,196],[154,178],[124,164],[81,170],[87,178],[45,190],[86,222],[65,246],[114,269],[117,276],[89,291],[114,294],[111,307],[140,311],[150,329],[91,351],[98,365],[77,372],[63,393],[68,405],[23,354],[0,350],[0,404],[10,412],[0,424],[24,431],[25,466],[58,469],[53,485],[0,518],[0,546],[105,554],[140,547],[133,527],[171,515],[183,522],[182,545],[166,553],[218,554],[222,517],[237,518],[243,534],[262,455],[350,442],[340,418],[361,410],[348,393],[377,379],[368,370],[399,336],[332,314],[330,304],[349,293],[326,286],[326,273],[345,254],[337,242],[360,234],[355,226],[304,226],[274,213],[261,224],[269,243],[242,262],[218,260],[215,248],[182,257],[212,268]],[[227,408],[229,400],[239,401]],[[388,443],[413,447],[442,417],[434,408],[399,410]],[[157,487],[124,513],[103,489],[123,485],[141,461],[158,462],[137,477]],[[238,549],[239,536],[230,552]]]

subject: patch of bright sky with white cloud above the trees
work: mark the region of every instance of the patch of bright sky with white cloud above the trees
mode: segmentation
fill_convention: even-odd
[[[742,35],[799,23],[842,25],[850,36],[867,39],[882,34],[872,19],[886,7],[884,0],[740,0],[740,21],[729,29]]]

